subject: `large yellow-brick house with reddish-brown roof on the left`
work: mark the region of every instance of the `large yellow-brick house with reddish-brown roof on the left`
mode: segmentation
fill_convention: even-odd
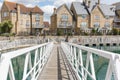
[[[12,33],[35,34],[43,28],[44,12],[37,6],[29,8],[23,4],[4,1],[1,8],[1,22],[10,20]]]

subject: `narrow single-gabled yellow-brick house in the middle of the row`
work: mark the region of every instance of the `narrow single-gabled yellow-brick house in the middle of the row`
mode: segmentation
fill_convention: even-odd
[[[61,5],[57,9],[54,8],[54,13],[51,16],[51,32],[63,34],[71,33],[73,28],[72,12],[66,4]],[[53,33],[53,34],[54,34]]]

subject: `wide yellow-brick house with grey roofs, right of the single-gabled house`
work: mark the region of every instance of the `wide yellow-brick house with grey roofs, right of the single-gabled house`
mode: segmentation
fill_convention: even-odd
[[[71,11],[75,20],[75,32],[80,30],[90,32],[92,28],[106,32],[112,29],[114,21],[115,7],[100,4],[100,0],[83,0],[83,2],[73,2]]]

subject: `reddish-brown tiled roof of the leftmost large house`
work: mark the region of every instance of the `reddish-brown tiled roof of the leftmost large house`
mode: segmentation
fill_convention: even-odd
[[[5,1],[5,5],[8,7],[9,11],[16,11],[17,4],[18,3]],[[18,4],[18,5],[20,6],[21,13],[29,13],[29,12],[43,13],[43,11],[37,6],[30,8],[30,7],[24,6],[23,4]]]

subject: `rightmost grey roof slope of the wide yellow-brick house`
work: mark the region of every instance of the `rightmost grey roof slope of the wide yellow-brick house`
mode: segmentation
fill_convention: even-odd
[[[105,16],[115,16],[114,8],[111,5],[100,4],[100,9]]]

